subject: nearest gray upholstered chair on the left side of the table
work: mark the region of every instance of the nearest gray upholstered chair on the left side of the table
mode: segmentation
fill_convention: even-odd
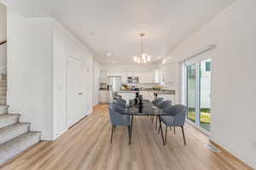
[[[128,136],[129,144],[131,144],[131,117],[129,115],[123,115],[127,109],[120,105],[110,104],[109,105],[109,117],[110,122],[112,123],[112,132],[110,143],[112,144],[113,132],[117,126],[127,126],[128,127]]]

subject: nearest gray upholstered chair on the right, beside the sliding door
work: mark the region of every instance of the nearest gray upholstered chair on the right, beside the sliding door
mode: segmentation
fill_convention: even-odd
[[[183,132],[183,142],[184,145],[186,145],[183,126],[187,115],[187,107],[185,105],[172,105],[165,108],[163,111],[168,115],[160,116],[160,123],[163,122],[166,125],[166,135],[168,127],[181,127]]]

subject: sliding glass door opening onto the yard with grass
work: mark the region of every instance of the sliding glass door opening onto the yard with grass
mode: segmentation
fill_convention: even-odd
[[[188,120],[204,130],[211,130],[211,59],[185,64]]]

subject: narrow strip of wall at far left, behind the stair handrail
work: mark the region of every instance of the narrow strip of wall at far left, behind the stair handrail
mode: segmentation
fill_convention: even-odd
[[[6,6],[0,3],[0,42],[6,40]],[[6,43],[0,46],[0,74],[6,73]]]

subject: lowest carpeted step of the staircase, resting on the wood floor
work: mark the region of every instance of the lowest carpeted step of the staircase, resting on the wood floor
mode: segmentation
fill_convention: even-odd
[[[0,165],[4,161],[8,161],[12,157],[17,156],[33,144],[37,144],[40,141],[40,136],[41,133],[39,132],[28,132],[4,144],[0,144]]]

